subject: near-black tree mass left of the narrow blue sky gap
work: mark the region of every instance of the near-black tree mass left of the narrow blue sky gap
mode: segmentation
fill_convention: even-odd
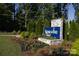
[[[14,21],[12,20],[14,4],[0,4],[0,30],[13,31]]]

